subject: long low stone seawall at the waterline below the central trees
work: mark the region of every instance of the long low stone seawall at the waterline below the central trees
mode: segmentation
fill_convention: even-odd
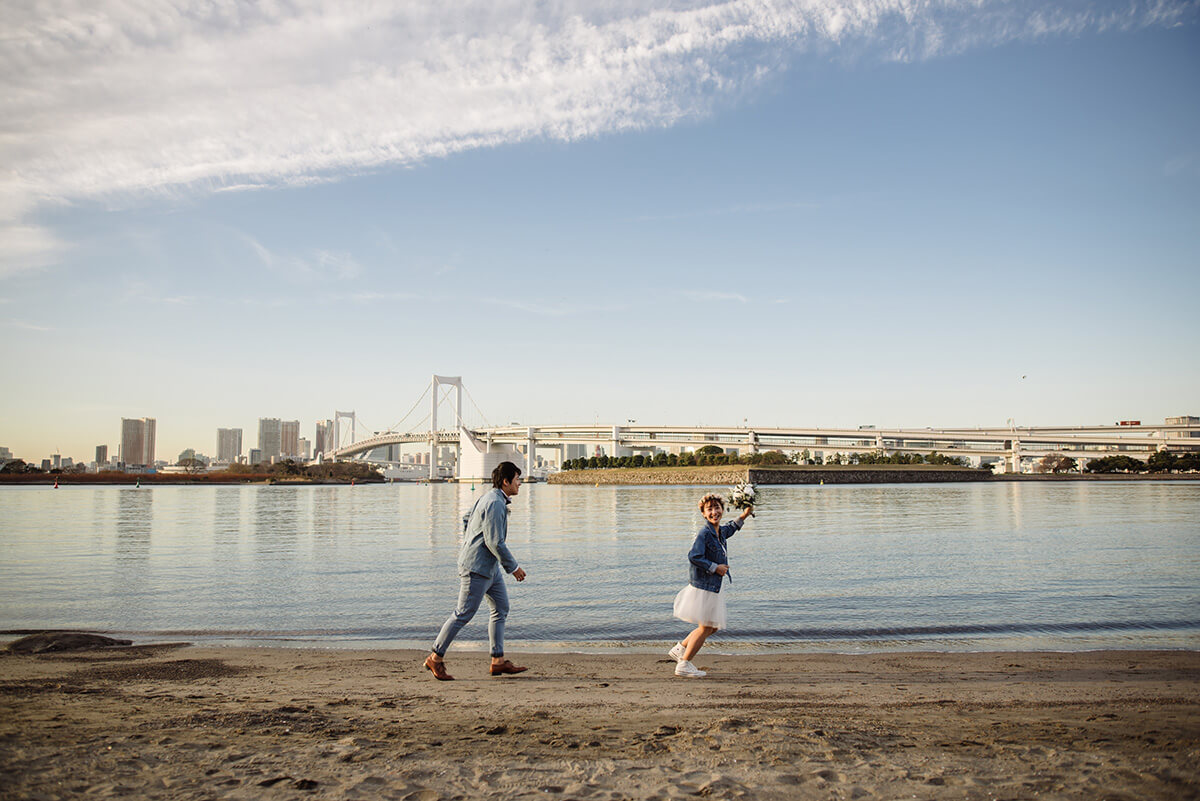
[[[752,468],[607,468],[564,470],[546,481],[552,484],[894,484],[911,482],[988,481],[990,470],[935,465],[824,465]]]

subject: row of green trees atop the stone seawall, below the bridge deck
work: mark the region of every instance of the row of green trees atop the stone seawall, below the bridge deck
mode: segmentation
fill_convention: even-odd
[[[655,453],[646,456],[589,456],[568,459],[563,470],[598,470],[604,468],[694,468],[725,464],[746,464],[752,466],[772,466],[784,464],[941,464],[967,466],[967,460],[960,456],[944,456],[934,451],[928,456],[920,453],[892,453],[883,451],[871,453],[829,453],[824,460],[818,460],[808,451],[787,454],[782,451],[763,451],[738,456],[726,453],[718,445],[704,445],[690,453]]]

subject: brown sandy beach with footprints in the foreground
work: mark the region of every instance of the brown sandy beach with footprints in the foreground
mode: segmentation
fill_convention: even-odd
[[[0,656],[5,799],[1190,799],[1200,654]]]

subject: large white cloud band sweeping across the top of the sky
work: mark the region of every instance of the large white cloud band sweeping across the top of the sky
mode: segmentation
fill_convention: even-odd
[[[1192,23],[1195,0],[7,0],[0,276],[46,204],[246,191],[530,138],[670,126],[842,48],[926,59]]]

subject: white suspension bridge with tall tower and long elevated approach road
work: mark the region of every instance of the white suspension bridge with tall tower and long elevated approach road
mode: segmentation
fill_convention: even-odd
[[[474,410],[468,424],[463,396]],[[404,428],[428,398],[428,412]],[[450,405],[449,418],[439,409]],[[343,420],[349,420],[349,442],[343,444]],[[365,459],[398,456],[403,446],[416,451],[421,477],[428,480],[480,480],[504,460],[527,474],[539,466],[560,465],[565,459],[590,456],[654,456],[680,453],[716,445],[730,453],[808,451],[814,458],[832,453],[929,453],[966,457],[972,464],[1000,463],[1008,472],[1020,472],[1022,464],[1050,453],[1061,453],[1080,464],[1104,456],[1127,454],[1145,459],[1157,451],[1200,451],[1200,421],[1157,424],[1043,426],[995,428],[764,428],[749,426],[646,426],[624,424],[508,424],[493,426],[466,390],[462,377],[434,375],[425,392],[404,417],[386,430],[356,438],[358,418],[353,411],[337,411],[330,447],[318,460]],[[413,448],[413,446],[416,446]],[[409,454],[410,458],[412,454]],[[414,465],[415,466],[415,465]],[[427,468],[427,470],[424,470]],[[414,471],[415,477],[415,471]]]

